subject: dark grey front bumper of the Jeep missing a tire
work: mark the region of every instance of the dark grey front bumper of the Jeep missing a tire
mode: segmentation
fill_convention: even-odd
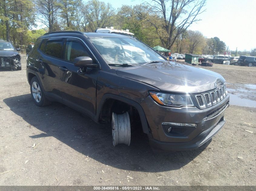
[[[167,151],[191,150],[203,145],[222,128],[225,123],[224,112],[229,106],[229,95],[220,103],[206,109],[164,107],[155,103],[150,96],[144,103],[144,108],[147,108],[144,111],[150,127],[148,138],[151,147]],[[178,133],[175,135],[166,131],[163,122],[190,123],[197,126],[177,128]]]

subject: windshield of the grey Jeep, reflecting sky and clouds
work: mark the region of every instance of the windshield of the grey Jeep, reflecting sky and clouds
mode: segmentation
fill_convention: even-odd
[[[89,40],[108,64],[142,65],[154,61],[166,61],[149,46],[135,38],[94,37]]]

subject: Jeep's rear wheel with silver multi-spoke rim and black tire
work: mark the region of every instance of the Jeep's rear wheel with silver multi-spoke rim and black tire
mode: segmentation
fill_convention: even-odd
[[[34,88],[36,87],[36,88]],[[33,88],[33,91],[32,91]],[[49,105],[51,102],[45,97],[43,88],[41,87],[41,84],[36,76],[34,76],[30,81],[30,92],[31,97],[34,101],[34,103],[39,106],[43,107],[46,105]],[[37,94],[37,95],[36,95]],[[35,97],[34,97],[35,96]],[[40,96],[40,98],[39,98]]]

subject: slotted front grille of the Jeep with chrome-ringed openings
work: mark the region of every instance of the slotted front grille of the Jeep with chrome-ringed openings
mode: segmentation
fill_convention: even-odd
[[[210,107],[213,104],[219,103],[227,95],[228,91],[224,84],[214,91],[206,92],[204,94],[197,94],[195,97],[199,107]]]

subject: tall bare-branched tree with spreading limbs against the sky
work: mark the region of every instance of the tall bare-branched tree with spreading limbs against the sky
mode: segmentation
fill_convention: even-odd
[[[170,2],[170,3],[169,3]],[[176,38],[194,22],[201,21],[196,17],[204,12],[202,10],[206,0],[152,0],[145,2],[149,14],[161,19],[157,24],[155,19],[151,21],[165,48],[171,49]],[[165,34],[160,29],[165,30]]]

